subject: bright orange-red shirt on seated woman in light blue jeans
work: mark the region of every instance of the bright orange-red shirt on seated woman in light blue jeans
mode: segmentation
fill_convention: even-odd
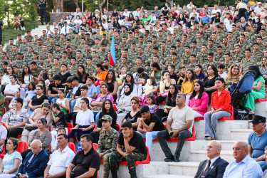
[[[216,90],[214,93],[211,94],[211,107],[215,110],[218,110],[219,108],[231,112],[231,96],[228,91],[225,89],[221,92],[221,94],[218,96],[218,90]]]

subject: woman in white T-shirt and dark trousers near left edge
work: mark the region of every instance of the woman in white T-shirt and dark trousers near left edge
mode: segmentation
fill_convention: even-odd
[[[6,88],[4,90],[4,95],[6,96],[4,105],[6,107],[6,110],[9,110],[9,103],[15,97],[16,90],[19,88],[19,85],[16,84],[16,75],[11,74],[9,79],[11,83],[6,85]]]

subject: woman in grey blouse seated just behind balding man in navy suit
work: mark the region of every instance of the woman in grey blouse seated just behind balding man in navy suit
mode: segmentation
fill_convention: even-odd
[[[33,150],[33,148],[31,147],[31,143],[33,142],[33,140],[40,140],[42,143],[43,150],[45,150],[48,155],[51,154],[50,145],[52,141],[52,136],[51,132],[46,129],[46,119],[38,119],[37,123],[38,129],[33,131],[33,137],[31,137],[31,140],[28,140],[28,150],[21,152],[23,160],[25,159],[28,152],[31,152],[31,150]]]

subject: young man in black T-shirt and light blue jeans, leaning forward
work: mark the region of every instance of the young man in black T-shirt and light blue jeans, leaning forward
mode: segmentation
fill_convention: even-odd
[[[154,113],[150,113],[150,108],[147,105],[142,106],[140,109],[142,115],[137,132],[146,139],[145,145],[147,145],[149,151],[152,150],[152,140],[157,138],[159,131],[165,130],[162,120],[159,119]]]

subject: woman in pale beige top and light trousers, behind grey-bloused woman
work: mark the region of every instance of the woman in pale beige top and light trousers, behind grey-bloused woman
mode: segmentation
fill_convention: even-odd
[[[50,110],[50,105],[48,103],[43,103],[41,105],[41,108],[38,108],[33,111],[33,114],[31,117],[28,119],[29,124],[26,124],[26,128],[23,130],[21,134],[21,141],[23,142],[28,142],[28,140],[31,140],[31,137],[33,136],[33,130],[38,129],[38,120],[41,118],[45,118],[47,125],[46,129],[49,130],[50,123],[52,121],[51,117],[51,112]]]

